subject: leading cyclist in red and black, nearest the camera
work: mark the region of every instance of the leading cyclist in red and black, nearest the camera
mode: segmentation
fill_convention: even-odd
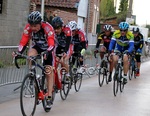
[[[31,48],[28,51],[28,56],[36,56],[44,52],[45,69],[47,69],[47,88],[48,97],[46,108],[50,109],[52,106],[52,89],[53,89],[53,49],[54,49],[54,30],[53,27],[42,21],[39,11],[33,11],[28,16],[28,24],[26,24],[22,38],[19,43],[18,52],[23,53],[28,42],[32,39]],[[14,54],[14,53],[13,53]],[[15,54],[14,54],[15,55]]]

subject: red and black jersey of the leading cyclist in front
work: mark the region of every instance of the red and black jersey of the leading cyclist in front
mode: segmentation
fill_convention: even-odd
[[[51,51],[54,48],[54,30],[53,27],[47,23],[41,23],[41,29],[34,33],[30,28],[30,24],[27,24],[22,34],[22,39],[19,44],[19,52],[23,50],[29,40],[32,39],[32,46],[38,46],[42,50]]]

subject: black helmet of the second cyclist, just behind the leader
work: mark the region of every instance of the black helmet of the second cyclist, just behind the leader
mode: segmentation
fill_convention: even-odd
[[[64,24],[63,20],[60,17],[54,17],[53,20],[52,20],[52,26],[53,26],[54,29],[62,27],[63,24]]]

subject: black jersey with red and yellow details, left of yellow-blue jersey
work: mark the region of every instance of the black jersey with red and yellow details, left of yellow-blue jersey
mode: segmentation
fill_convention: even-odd
[[[108,49],[112,35],[113,35],[113,32],[111,32],[109,36],[107,36],[105,34],[105,32],[101,32],[98,36],[98,40],[97,40],[97,43],[96,43],[96,48],[99,48],[99,44],[101,43],[101,41],[103,41],[103,45]]]

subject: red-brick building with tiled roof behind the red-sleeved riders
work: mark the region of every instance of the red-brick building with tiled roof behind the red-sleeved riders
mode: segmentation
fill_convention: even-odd
[[[41,0],[31,0],[41,10]],[[90,44],[96,43],[96,25],[99,21],[100,0],[45,0],[45,19],[60,16],[64,23],[75,20],[85,30]],[[84,7],[83,7],[84,6]]]

